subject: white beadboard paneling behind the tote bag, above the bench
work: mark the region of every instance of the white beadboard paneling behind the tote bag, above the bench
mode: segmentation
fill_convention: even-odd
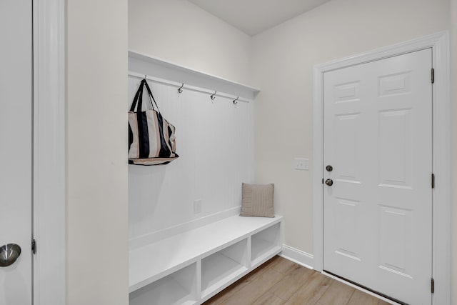
[[[129,104],[139,83],[129,77]],[[130,239],[233,209],[241,204],[241,183],[253,182],[253,102],[235,106],[222,97],[211,101],[207,94],[149,85],[161,114],[176,127],[179,159],[129,165]],[[194,214],[197,199],[202,209]]]

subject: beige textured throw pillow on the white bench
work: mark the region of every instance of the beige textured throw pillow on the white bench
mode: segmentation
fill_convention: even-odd
[[[244,184],[240,216],[274,217],[274,184]]]

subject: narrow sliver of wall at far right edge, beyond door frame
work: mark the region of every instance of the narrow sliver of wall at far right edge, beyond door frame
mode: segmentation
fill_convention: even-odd
[[[451,304],[457,305],[457,0],[451,0]]]

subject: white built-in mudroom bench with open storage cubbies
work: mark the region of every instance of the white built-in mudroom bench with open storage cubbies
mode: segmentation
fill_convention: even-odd
[[[130,305],[201,304],[282,250],[282,216],[230,216],[129,251]]]

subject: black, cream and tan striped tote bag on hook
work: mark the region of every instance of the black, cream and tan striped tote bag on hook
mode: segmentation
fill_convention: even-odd
[[[142,110],[144,87],[152,106],[146,111]],[[161,115],[151,89],[143,79],[129,111],[129,164],[169,164],[178,157],[175,128]]]

